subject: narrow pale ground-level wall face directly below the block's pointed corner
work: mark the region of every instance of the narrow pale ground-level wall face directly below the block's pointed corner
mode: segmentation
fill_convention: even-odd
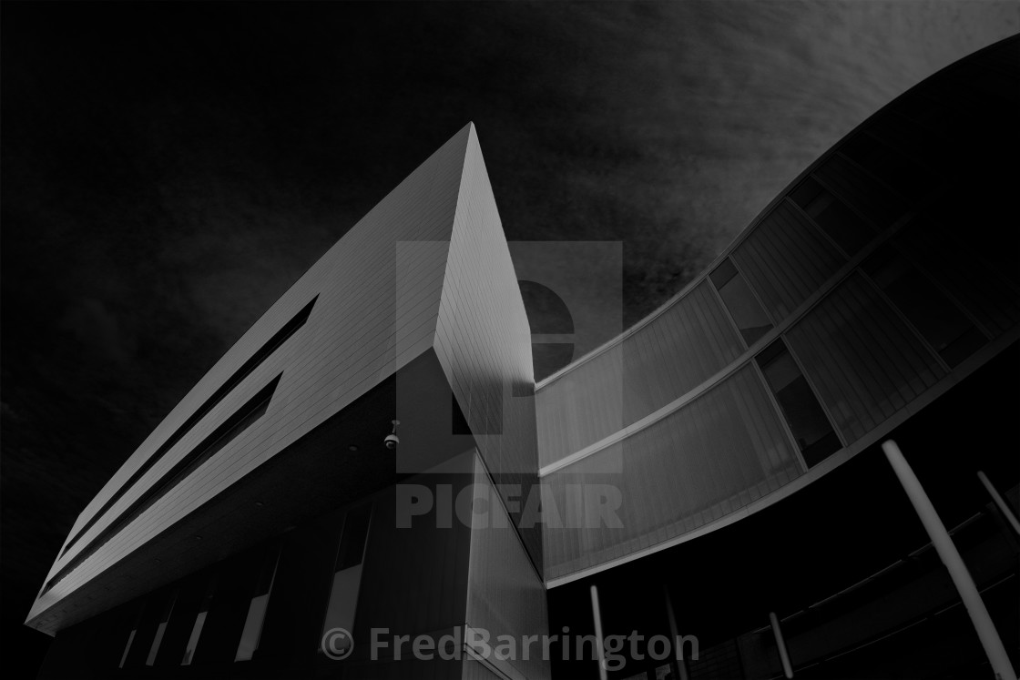
[[[500,635],[509,635],[518,642],[526,635],[545,636],[549,633],[545,585],[477,459],[474,484],[475,498],[488,499],[489,511],[471,515],[467,625],[487,631],[493,645]],[[531,649],[529,660],[517,655],[506,661],[490,661],[512,667],[516,673],[504,669],[511,677],[549,678],[549,660],[543,661],[540,648]]]

